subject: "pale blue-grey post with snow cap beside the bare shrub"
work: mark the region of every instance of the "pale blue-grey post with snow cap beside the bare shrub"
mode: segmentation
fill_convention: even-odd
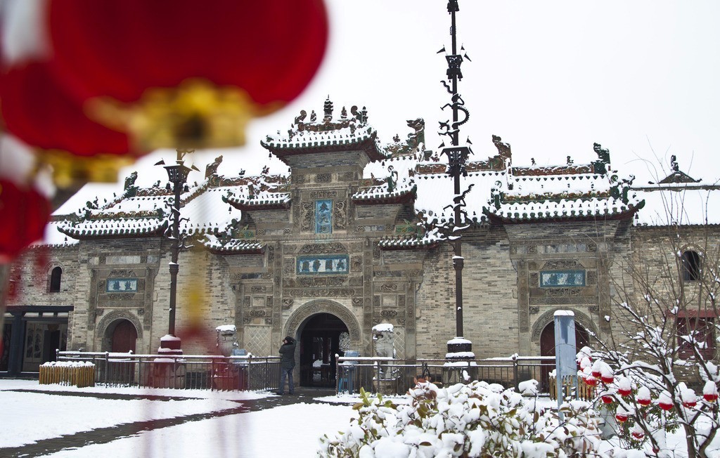
[[[559,310],[555,319],[555,383],[557,383],[557,408],[560,422],[563,421],[559,411],[564,400],[563,383],[565,377],[571,377],[577,398],[577,347],[575,345],[575,313]]]

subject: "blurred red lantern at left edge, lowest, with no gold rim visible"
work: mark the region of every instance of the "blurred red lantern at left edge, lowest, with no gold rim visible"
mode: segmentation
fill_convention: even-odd
[[[42,239],[50,219],[50,203],[34,188],[24,188],[0,178],[0,264],[10,262]]]

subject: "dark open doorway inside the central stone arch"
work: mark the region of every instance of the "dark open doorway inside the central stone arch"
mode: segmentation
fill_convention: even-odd
[[[300,335],[300,386],[335,386],[335,355],[342,355],[343,332],[348,332],[347,326],[330,313],[318,313],[307,320]]]

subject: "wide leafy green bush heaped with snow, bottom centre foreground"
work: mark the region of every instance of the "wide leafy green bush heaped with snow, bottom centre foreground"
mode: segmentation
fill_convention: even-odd
[[[344,431],[320,439],[321,457],[570,457],[592,456],[600,443],[598,422],[588,403],[557,411],[535,409],[500,385],[474,381],[438,388],[420,382],[408,404],[361,392],[359,418]]]

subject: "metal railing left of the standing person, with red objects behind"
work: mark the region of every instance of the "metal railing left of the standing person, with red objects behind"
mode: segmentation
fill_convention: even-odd
[[[276,390],[279,357],[58,352],[58,361],[89,361],[95,383],[189,390]]]

